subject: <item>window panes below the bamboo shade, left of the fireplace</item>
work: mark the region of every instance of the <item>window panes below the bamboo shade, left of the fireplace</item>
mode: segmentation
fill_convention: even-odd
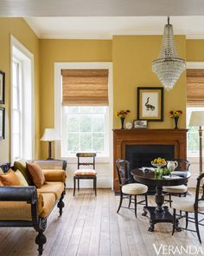
[[[63,156],[77,152],[96,152],[98,156],[109,154],[108,107],[63,107],[62,127]]]

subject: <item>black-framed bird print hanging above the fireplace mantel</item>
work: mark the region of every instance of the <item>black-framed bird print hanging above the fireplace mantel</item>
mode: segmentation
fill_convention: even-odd
[[[137,120],[163,121],[163,88],[137,88]]]

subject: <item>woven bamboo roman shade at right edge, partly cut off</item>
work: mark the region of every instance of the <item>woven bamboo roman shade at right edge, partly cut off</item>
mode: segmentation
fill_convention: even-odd
[[[204,107],[204,69],[187,69],[187,106]]]

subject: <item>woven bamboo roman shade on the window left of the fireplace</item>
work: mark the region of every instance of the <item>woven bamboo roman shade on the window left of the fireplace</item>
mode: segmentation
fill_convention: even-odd
[[[107,106],[108,69],[62,69],[63,106]]]

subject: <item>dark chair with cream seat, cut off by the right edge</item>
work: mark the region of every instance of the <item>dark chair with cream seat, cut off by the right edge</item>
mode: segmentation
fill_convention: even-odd
[[[201,180],[204,178],[204,174],[201,174],[197,179],[197,185],[195,190],[195,196],[187,196],[186,198],[178,198],[173,200],[172,208],[174,209],[174,224],[173,224],[173,232],[172,235],[175,233],[175,226],[176,226],[176,210],[185,212],[185,215],[182,215],[177,218],[177,220],[182,219],[183,217],[186,218],[186,227],[182,228],[191,232],[196,232],[198,239],[201,243],[201,235],[199,231],[199,226],[204,226],[201,223],[204,219],[198,219],[198,215],[204,215],[204,185],[201,189]],[[202,190],[202,191],[201,191]],[[200,195],[201,192],[201,195]],[[189,217],[188,213],[194,213],[194,217]],[[195,230],[188,229],[188,221],[195,224]]]

